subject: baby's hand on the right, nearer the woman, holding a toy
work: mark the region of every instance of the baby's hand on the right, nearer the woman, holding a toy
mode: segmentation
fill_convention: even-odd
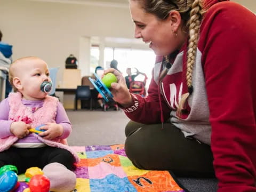
[[[38,135],[44,137],[44,139],[54,139],[63,134],[63,127],[57,123],[45,123],[44,126],[40,127],[39,130],[46,130]]]

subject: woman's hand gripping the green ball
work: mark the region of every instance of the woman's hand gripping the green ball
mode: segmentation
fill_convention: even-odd
[[[104,71],[104,75],[107,73],[113,73],[117,77],[117,83],[111,83],[110,91],[114,95],[113,99],[123,107],[132,105],[132,97],[126,86],[123,75],[113,68]]]

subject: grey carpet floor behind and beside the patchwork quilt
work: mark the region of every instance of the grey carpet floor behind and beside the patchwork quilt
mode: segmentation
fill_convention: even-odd
[[[124,127],[129,122],[122,110],[67,110],[73,125],[68,138],[70,146],[114,145],[124,143]],[[217,191],[216,179],[178,178],[190,192]]]

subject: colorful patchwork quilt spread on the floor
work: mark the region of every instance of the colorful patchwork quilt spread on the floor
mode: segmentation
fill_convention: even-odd
[[[72,148],[81,158],[76,164],[77,183],[73,192],[187,191],[168,171],[137,169],[127,158],[124,145]],[[24,180],[25,175],[19,175],[19,181]]]

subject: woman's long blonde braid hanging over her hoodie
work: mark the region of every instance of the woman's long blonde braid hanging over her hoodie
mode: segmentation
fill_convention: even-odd
[[[199,29],[200,29],[201,20],[202,20],[202,14],[203,14],[203,11],[202,11],[201,0],[195,0],[191,6],[190,19],[189,19],[189,44],[188,44],[188,53],[187,53],[187,73],[186,73],[188,92],[182,94],[181,96],[181,100],[179,102],[179,107],[177,110],[177,113],[179,116],[181,115],[182,109],[184,109],[183,106],[185,105],[185,102],[187,101],[189,95],[193,92],[192,72],[193,72],[193,67],[196,60],[197,43],[199,38]]]

